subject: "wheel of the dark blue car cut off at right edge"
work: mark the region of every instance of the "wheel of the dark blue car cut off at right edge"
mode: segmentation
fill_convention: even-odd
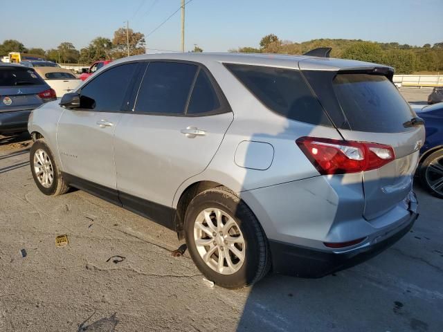
[[[443,149],[430,154],[420,165],[419,176],[422,185],[434,196],[443,199]]]

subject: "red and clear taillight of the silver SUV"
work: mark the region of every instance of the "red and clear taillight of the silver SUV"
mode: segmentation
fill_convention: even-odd
[[[345,174],[377,169],[395,159],[389,145],[301,137],[297,145],[320,174]]]

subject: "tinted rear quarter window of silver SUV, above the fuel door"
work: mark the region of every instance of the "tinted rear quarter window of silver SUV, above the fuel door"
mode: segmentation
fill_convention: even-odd
[[[225,66],[271,111],[291,120],[332,127],[300,71],[242,64]]]

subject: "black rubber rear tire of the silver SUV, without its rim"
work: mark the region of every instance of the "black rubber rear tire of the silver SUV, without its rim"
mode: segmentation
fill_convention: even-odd
[[[222,275],[210,268],[201,258],[194,239],[194,224],[200,212],[208,208],[230,214],[239,226],[245,242],[244,263],[237,272]],[[201,192],[190,202],[185,216],[185,237],[195,265],[207,279],[225,288],[251,286],[264,277],[271,268],[271,255],[266,235],[246,203],[226,187]]]

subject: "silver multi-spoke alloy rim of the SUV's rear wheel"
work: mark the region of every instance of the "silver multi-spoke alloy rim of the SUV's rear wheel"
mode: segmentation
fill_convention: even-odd
[[[194,223],[194,241],[201,259],[221,275],[232,275],[244,264],[246,246],[239,225],[228,213],[208,208]]]

